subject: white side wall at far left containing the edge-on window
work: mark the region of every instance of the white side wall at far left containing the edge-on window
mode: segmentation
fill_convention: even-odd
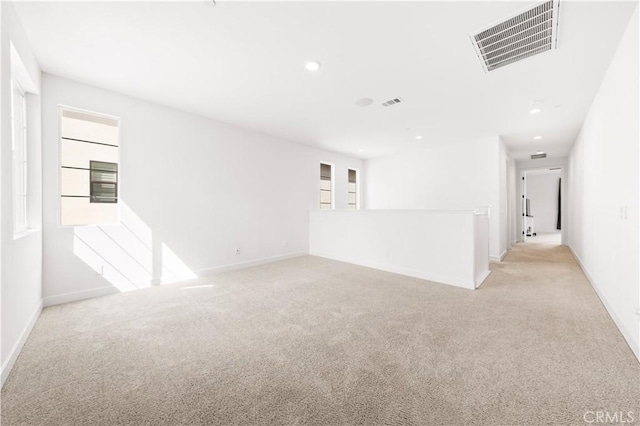
[[[11,154],[11,43],[24,64],[30,90],[40,90],[40,69],[11,3],[2,2],[0,37],[1,92],[1,254],[2,254],[2,383],[6,380],[42,306],[40,97],[27,96],[28,209],[32,231],[14,239]],[[15,61],[14,61],[15,64]]]

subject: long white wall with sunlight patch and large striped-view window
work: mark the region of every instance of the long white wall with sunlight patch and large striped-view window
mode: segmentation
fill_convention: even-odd
[[[347,206],[347,169],[362,168],[56,76],[42,84],[46,304],[306,253],[320,162],[335,164],[337,208]],[[122,226],[58,226],[59,104],[121,118]]]

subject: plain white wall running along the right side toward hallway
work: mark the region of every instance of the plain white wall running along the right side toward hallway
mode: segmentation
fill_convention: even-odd
[[[569,157],[569,244],[640,359],[638,9]]]

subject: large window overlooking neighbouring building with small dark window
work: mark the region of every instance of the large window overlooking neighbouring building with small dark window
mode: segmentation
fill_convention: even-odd
[[[60,224],[118,222],[118,119],[61,108]]]

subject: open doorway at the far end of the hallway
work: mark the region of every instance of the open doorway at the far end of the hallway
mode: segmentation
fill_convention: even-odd
[[[522,241],[562,244],[563,170],[547,167],[523,171]]]

